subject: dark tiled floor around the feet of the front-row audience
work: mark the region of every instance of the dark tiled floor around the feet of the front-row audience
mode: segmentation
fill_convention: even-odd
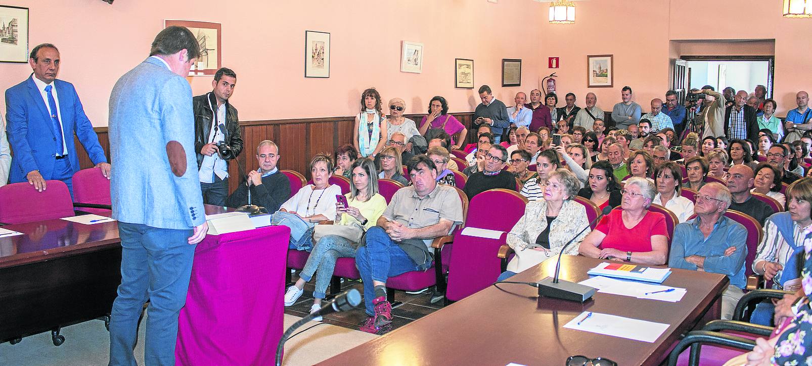
[[[297,274],[293,275],[293,279],[299,278]],[[356,289],[362,294],[364,286],[360,281],[345,279],[341,290],[348,291],[349,289]],[[403,325],[407,325],[412,321],[420,319],[422,316],[436,312],[438,309],[443,308],[443,300],[438,301],[437,304],[431,304],[431,290],[425,291],[421,294],[411,295],[403,291],[395,291],[395,301],[400,301],[402,304],[395,305],[392,308],[392,329],[397,329]],[[327,291],[329,293],[329,290]],[[304,285],[304,294],[299,298],[291,307],[285,308],[285,313],[294,316],[306,316],[310,311],[310,306],[313,304],[313,284],[307,283]],[[322,304],[324,304],[322,302]],[[331,325],[338,325],[349,329],[358,329],[364,323],[366,314],[364,312],[364,304],[361,303],[359,308],[351,312],[334,312],[324,316],[324,322]]]

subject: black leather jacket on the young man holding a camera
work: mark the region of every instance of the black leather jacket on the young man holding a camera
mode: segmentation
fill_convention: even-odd
[[[195,113],[195,154],[197,154],[197,169],[200,169],[203,163],[201,149],[203,149],[203,145],[209,143],[211,120],[214,118],[214,111],[211,105],[217,105],[217,99],[214,97],[214,93],[205,93],[192,98],[192,109]],[[237,110],[228,101],[226,101],[226,131],[224,131],[224,133],[226,135],[225,141],[231,146],[231,150],[234,151],[234,156],[239,156],[240,152],[243,151],[240,120],[237,118]]]

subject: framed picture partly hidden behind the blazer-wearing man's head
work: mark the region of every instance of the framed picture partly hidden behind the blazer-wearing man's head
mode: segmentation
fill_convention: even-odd
[[[192,65],[189,75],[214,75],[222,67],[222,24],[175,19],[163,21],[164,28],[173,25],[189,28],[201,46],[201,57]]]

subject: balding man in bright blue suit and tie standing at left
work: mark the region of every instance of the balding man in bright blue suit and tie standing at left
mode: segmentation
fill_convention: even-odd
[[[31,77],[6,90],[6,130],[14,153],[10,180],[28,181],[39,192],[45,189],[46,180],[61,180],[72,195],[71,178],[79,171],[74,133],[107,179],[110,164],[76,88],[56,78],[59,61],[56,46],[37,45],[28,59],[34,71]]]

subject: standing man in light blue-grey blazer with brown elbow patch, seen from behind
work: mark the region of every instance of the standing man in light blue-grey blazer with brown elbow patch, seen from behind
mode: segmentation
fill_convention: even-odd
[[[158,33],[149,58],[110,94],[110,196],[121,237],[121,285],[110,315],[110,365],[136,365],[132,350],[149,299],[145,363],[175,364],[178,315],[195,246],[209,229],[194,149],[192,88],[200,55],[183,27]]]

